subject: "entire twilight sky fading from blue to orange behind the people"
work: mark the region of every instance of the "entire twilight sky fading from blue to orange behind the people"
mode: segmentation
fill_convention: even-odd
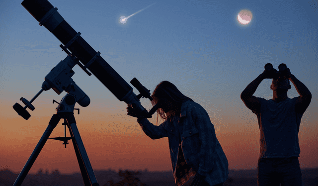
[[[41,93],[32,103],[35,110],[27,109],[28,120],[12,108],[16,102],[23,105],[20,97],[31,100],[44,77],[67,57],[61,42],[21,2],[0,1],[0,169],[15,172],[22,170],[56,113],[52,100],[60,101],[66,94],[52,89]],[[257,117],[245,107],[240,93],[266,63],[276,69],[285,63],[313,95],[301,121],[299,160],[301,168],[318,168],[317,0],[50,2],[128,84],[136,77],[152,93],[166,80],[201,104],[230,169],[256,169],[259,157]],[[243,9],[252,13],[244,26],[237,19]],[[119,23],[121,16],[132,14],[125,25]],[[87,107],[76,104],[80,114],[75,118],[92,168],[172,170],[167,138],[150,139],[137,119],[127,115],[125,102],[94,75],[78,66],[73,70],[73,80],[91,100]],[[254,95],[272,98],[270,84],[269,79],[262,81]],[[288,96],[299,96],[293,85]],[[141,103],[152,108],[149,99]],[[156,125],[157,114],[150,121]],[[50,137],[58,136],[64,136],[62,121]],[[61,141],[49,139],[30,172],[40,168],[79,172],[72,146],[70,141],[65,149]]]

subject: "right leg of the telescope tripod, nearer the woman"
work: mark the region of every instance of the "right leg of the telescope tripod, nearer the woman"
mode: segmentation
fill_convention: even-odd
[[[93,172],[93,169],[90,165],[84,144],[80,138],[79,130],[78,130],[78,127],[76,126],[76,121],[75,121],[75,117],[73,113],[68,114],[67,121],[69,123],[70,134],[72,137],[74,137],[72,139],[72,142],[74,145],[76,156],[78,158],[79,168],[84,180],[84,185],[99,186],[99,184],[97,183],[95,174]]]

